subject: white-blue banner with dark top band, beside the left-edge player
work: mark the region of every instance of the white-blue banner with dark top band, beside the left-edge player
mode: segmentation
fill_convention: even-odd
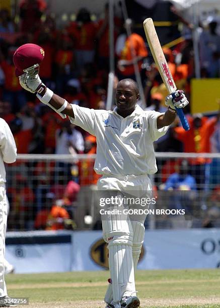
[[[16,273],[71,270],[71,232],[8,232],[6,259]]]

